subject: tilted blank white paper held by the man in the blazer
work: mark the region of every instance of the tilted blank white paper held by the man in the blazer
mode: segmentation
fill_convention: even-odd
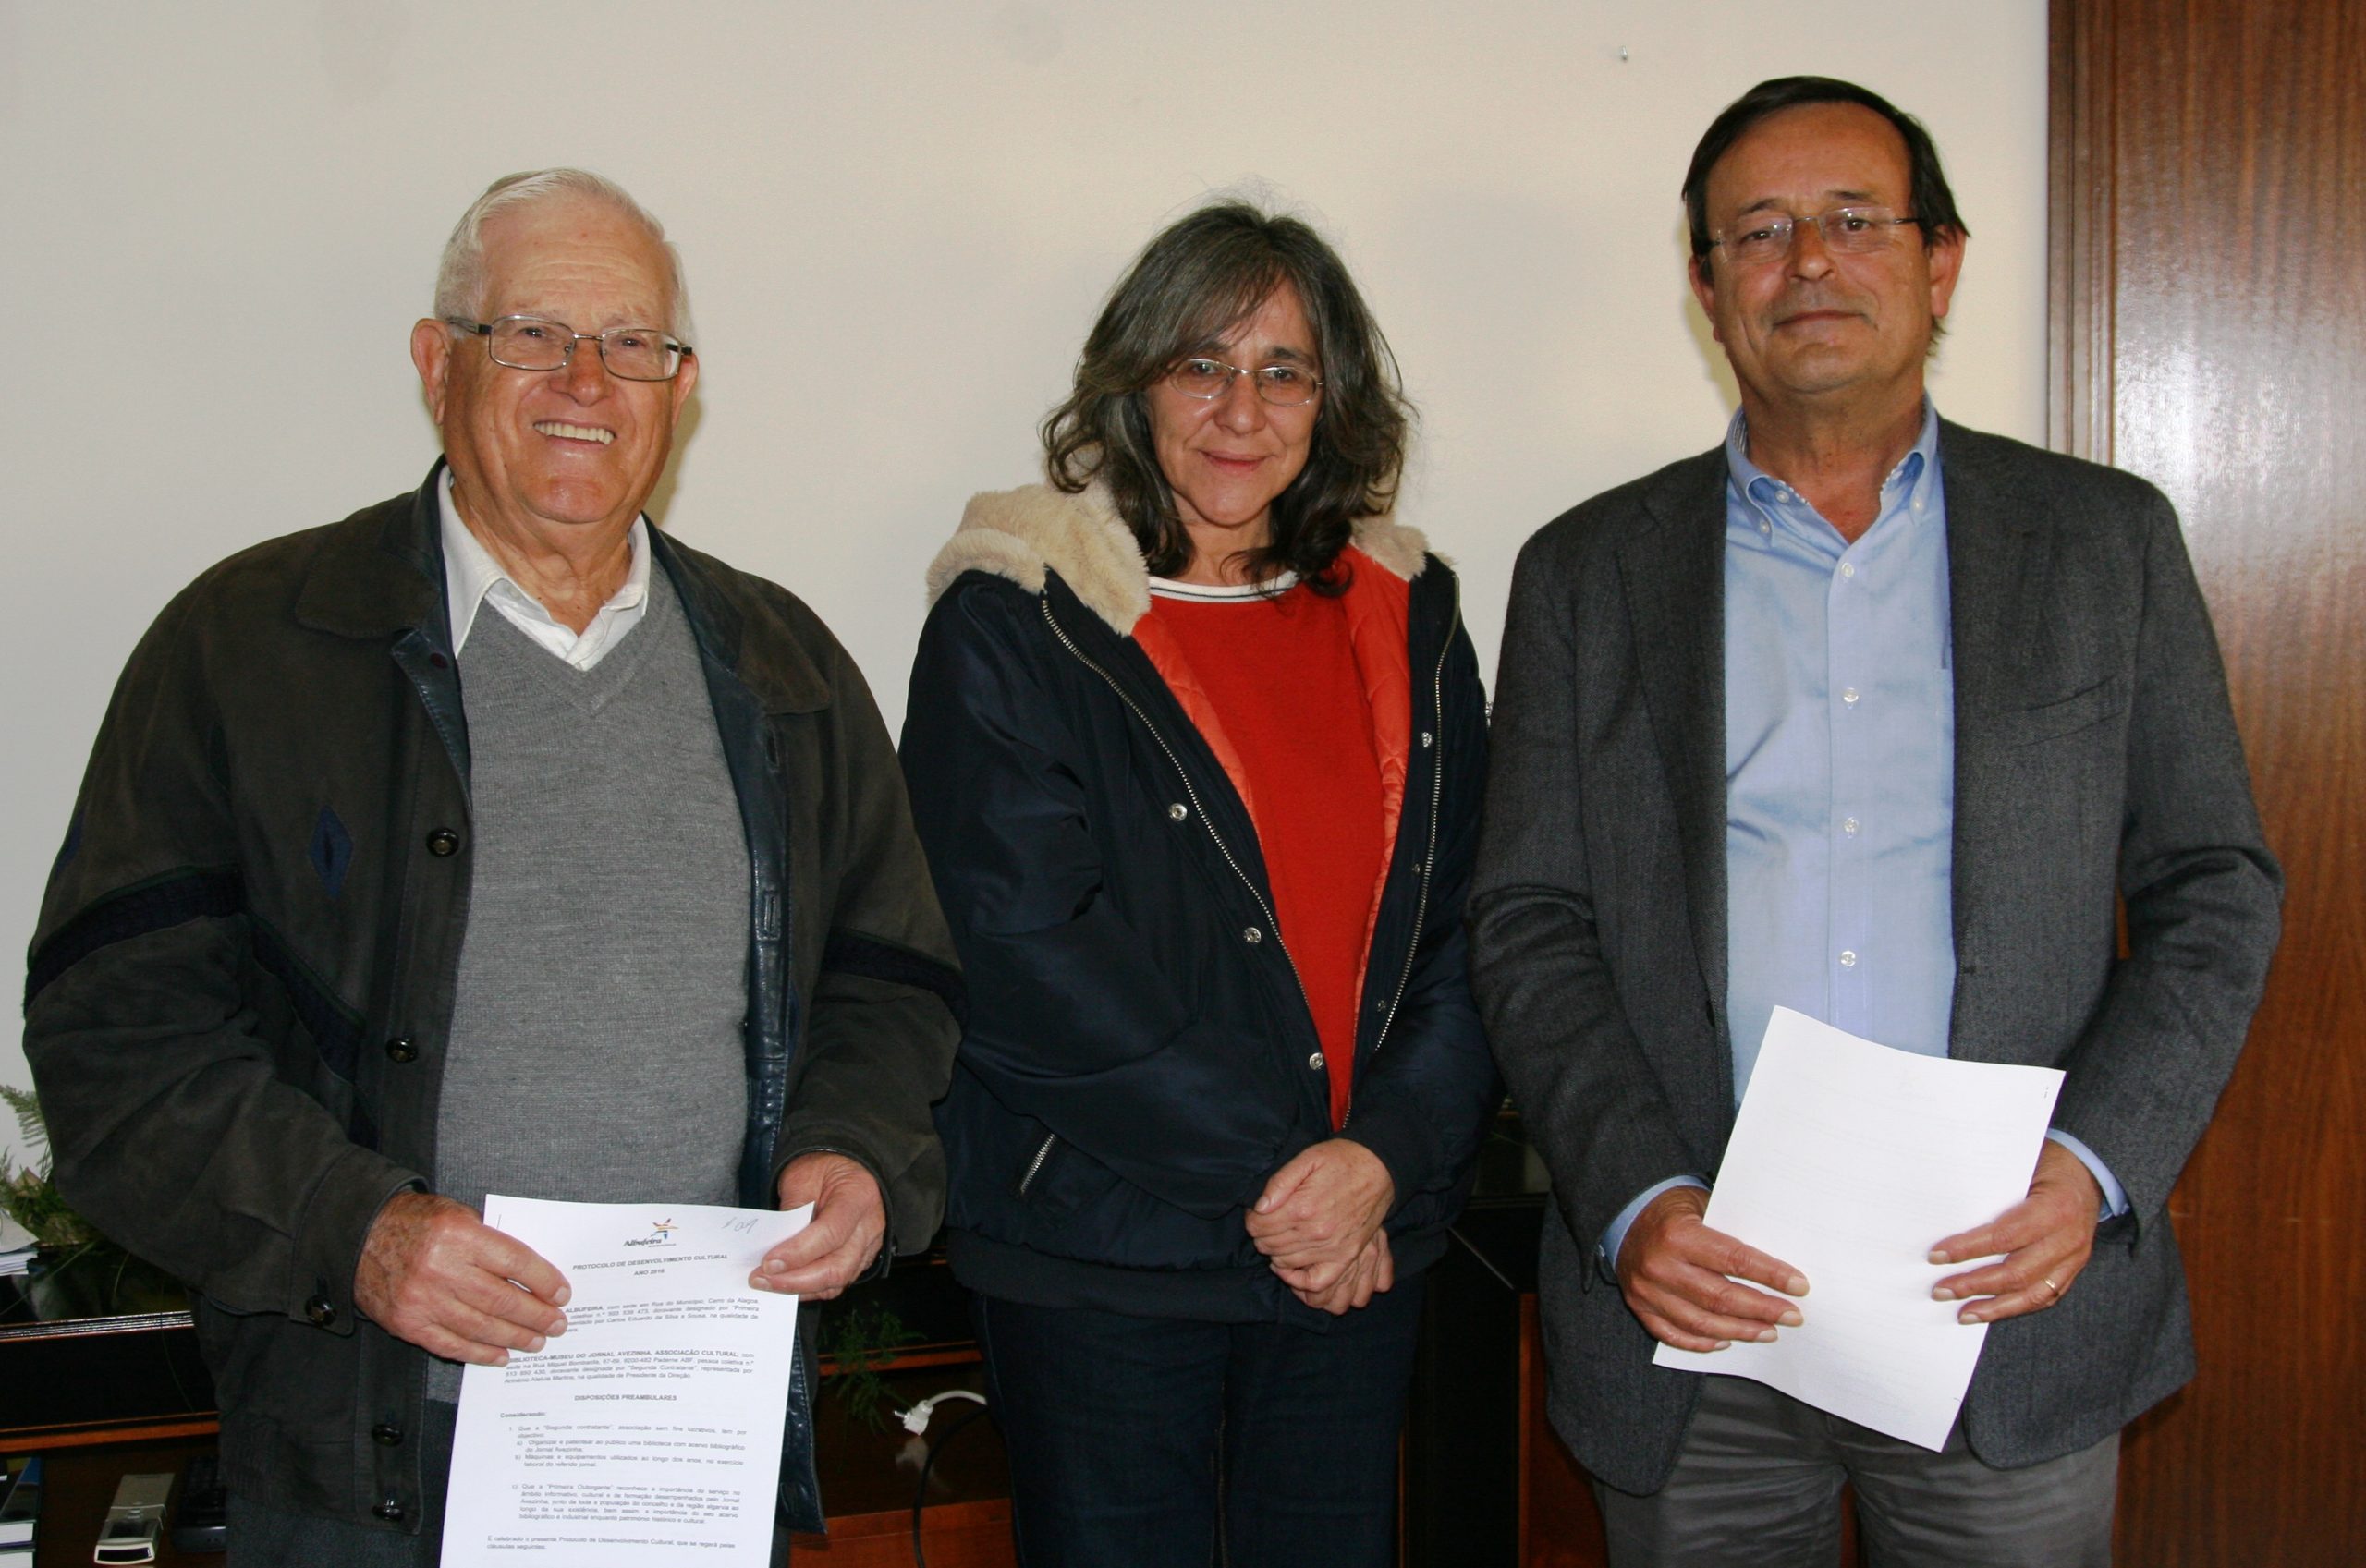
[[[1928,1251],[2028,1197],[2061,1078],[1893,1050],[1777,1007],[1706,1223],[1808,1275],[1805,1324],[1772,1346],[1659,1346],[1651,1362],[1751,1376],[1945,1447],[1987,1324],[1931,1298],[1952,1270]]]

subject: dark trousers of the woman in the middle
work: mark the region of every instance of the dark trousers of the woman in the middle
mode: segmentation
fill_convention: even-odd
[[[1327,1334],[984,1296],[972,1320],[1022,1568],[1396,1561],[1417,1279]]]

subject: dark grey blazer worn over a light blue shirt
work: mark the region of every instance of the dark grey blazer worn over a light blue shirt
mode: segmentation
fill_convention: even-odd
[[[1990,1329],[1964,1426],[2016,1466],[2101,1440],[2193,1372],[2165,1206],[2260,1000],[2283,882],[2170,504],[1952,423],[1940,452],[1950,1055],[2061,1067],[2054,1126],[2132,1209],[2058,1308]],[[1552,1424],[1628,1492],[1666,1483],[1699,1374],[1651,1367],[1595,1244],[1651,1183],[1713,1175],[1732,1130],[1722,556],[1722,447],[1528,539],[1469,901],[1479,1003],[1552,1173]]]

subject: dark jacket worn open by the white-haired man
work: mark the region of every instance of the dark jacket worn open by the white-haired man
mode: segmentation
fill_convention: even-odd
[[[196,1296],[225,1480],[397,1530],[424,1353],[355,1313],[353,1275],[379,1206],[435,1168],[468,911],[438,482],[232,556],[163,610],[50,875],[24,1034],[66,1197]],[[741,1201],[838,1149],[920,1249],[958,977],[887,733],[797,598],[651,549],[748,825]],[[781,1473],[819,1528],[802,1367]]]

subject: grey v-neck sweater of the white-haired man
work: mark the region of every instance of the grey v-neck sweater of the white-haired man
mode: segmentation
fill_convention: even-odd
[[[435,1190],[736,1201],[748,835],[672,582],[592,669],[490,608],[459,669],[476,873]]]

